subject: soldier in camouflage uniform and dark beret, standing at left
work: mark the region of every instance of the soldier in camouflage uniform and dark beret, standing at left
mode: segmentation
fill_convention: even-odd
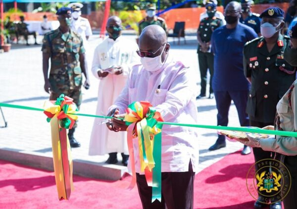
[[[59,8],[56,12],[60,27],[47,33],[43,40],[43,73],[45,91],[50,100],[56,100],[60,94],[73,98],[79,107],[82,100],[82,72],[85,75],[85,88],[88,88],[88,76],[85,66],[85,49],[82,38],[70,29],[71,11],[69,7]],[[49,70],[50,58],[50,72]],[[71,147],[80,147],[73,133],[77,124],[68,132]]]

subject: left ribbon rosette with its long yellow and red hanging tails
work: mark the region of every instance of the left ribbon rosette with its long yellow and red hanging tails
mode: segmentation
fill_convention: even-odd
[[[77,120],[77,106],[73,99],[63,94],[56,101],[46,101],[44,113],[51,127],[51,143],[55,182],[59,200],[69,200],[73,187],[72,157],[66,129]]]

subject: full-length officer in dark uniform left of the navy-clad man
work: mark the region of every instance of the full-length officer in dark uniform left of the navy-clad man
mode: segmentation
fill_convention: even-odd
[[[199,70],[201,77],[201,90],[200,95],[197,99],[201,99],[206,96],[206,80],[207,80],[207,68],[210,73],[210,81],[209,81],[209,99],[213,98],[213,90],[212,90],[212,75],[213,75],[213,59],[214,55],[210,52],[210,39],[212,32],[223,25],[223,21],[220,18],[215,17],[216,13],[216,4],[209,1],[205,4],[206,13],[208,17],[201,20],[198,32],[198,62],[199,62]]]

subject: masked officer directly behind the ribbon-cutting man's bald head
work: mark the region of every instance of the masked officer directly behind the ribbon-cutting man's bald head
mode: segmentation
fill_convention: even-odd
[[[150,5],[147,9],[147,17],[145,17],[139,24],[139,34],[143,31],[145,27],[148,25],[158,25],[161,26],[167,34],[167,25],[163,18],[158,17],[156,14],[156,7],[155,5]]]

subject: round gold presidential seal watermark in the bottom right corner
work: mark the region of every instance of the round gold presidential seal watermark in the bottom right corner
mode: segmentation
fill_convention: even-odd
[[[261,203],[273,204],[283,200],[291,189],[291,174],[279,160],[262,159],[247,172],[247,190]]]

